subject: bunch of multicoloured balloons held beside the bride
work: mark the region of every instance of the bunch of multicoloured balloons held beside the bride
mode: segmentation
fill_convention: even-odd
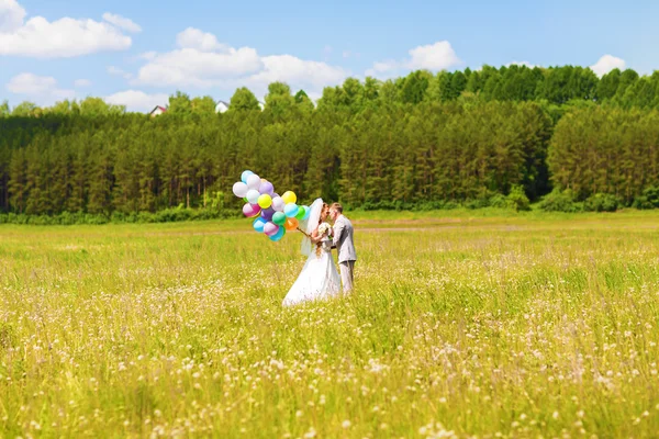
[[[248,218],[255,218],[253,226],[258,233],[266,234],[272,241],[278,241],[298,228],[299,222],[309,218],[309,206],[299,206],[298,196],[287,191],[283,195],[275,192],[275,187],[268,180],[252,171],[244,171],[241,181],[233,185],[233,193],[245,200],[243,213]]]

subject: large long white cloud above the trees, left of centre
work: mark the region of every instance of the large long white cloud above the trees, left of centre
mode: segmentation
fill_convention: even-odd
[[[273,81],[320,91],[347,76],[342,68],[322,61],[292,55],[260,56],[252,47],[230,47],[214,35],[192,27],[179,33],[176,41],[178,48],[175,50],[142,55],[147,63],[139,68],[132,83],[200,89],[247,86],[259,94]]]

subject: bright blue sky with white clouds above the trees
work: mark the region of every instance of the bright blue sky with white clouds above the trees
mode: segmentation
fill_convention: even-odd
[[[317,99],[348,77],[482,65],[659,69],[654,0],[0,0],[0,102],[101,97],[131,111],[177,90]]]

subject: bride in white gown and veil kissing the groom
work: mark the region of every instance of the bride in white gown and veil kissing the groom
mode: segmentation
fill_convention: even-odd
[[[317,199],[311,205],[306,224],[300,224],[300,229],[305,233],[302,255],[308,258],[298,280],[283,299],[283,306],[336,296],[340,291],[340,277],[334,266],[332,240],[328,238],[331,226],[325,223],[328,213],[330,206]]]

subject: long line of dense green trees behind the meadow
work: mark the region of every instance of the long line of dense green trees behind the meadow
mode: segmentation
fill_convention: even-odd
[[[244,169],[351,209],[488,205],[521,190],[533,201],[552,189],[647,206],[659,187],[657,72],[485,66],[350,78],[316,105],[275,82],[265,101],[261,111],[242,88],[215,114],[211,98],[177,92],[158,117],[94,98],[21,113],[4,104],[0,211],[234,212]]]

